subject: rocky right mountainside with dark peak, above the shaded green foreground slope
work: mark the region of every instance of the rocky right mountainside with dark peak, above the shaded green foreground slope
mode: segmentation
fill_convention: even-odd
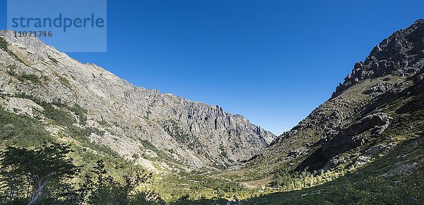
[[[422,138],[423,66],[424,20],[418,20],[372,49],[330,100],[249,165],[269,172],[334,170],[362,165],[403,141]]]

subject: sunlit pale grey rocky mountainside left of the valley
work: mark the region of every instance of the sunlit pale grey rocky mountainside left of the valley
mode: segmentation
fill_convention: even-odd
[[[165,156],[194,167],[223,167],[251,158],[275,138],[245,117],[230,115],[218,106],[137,88],[95,64],[81,64],[35,37],[16,38],[11,31],[2,30],[0,47],[1,107],[40,117],[54,135],[66,134],[66,127],[40,116],[42,107],[34,99],[85,108],[87,120],[78,126],[102,131],[91,133],[91,141],[145,164],[146,158],[138,156]]]

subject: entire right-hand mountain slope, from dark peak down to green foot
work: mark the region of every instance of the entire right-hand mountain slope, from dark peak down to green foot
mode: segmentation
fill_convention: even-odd
[[[179,204],[422,204],[423,68],[418,20],[372,49],[329,100],[259,155],[206,173],[227,182],[212,187],[218,199],[189,193],[193,200]]]

